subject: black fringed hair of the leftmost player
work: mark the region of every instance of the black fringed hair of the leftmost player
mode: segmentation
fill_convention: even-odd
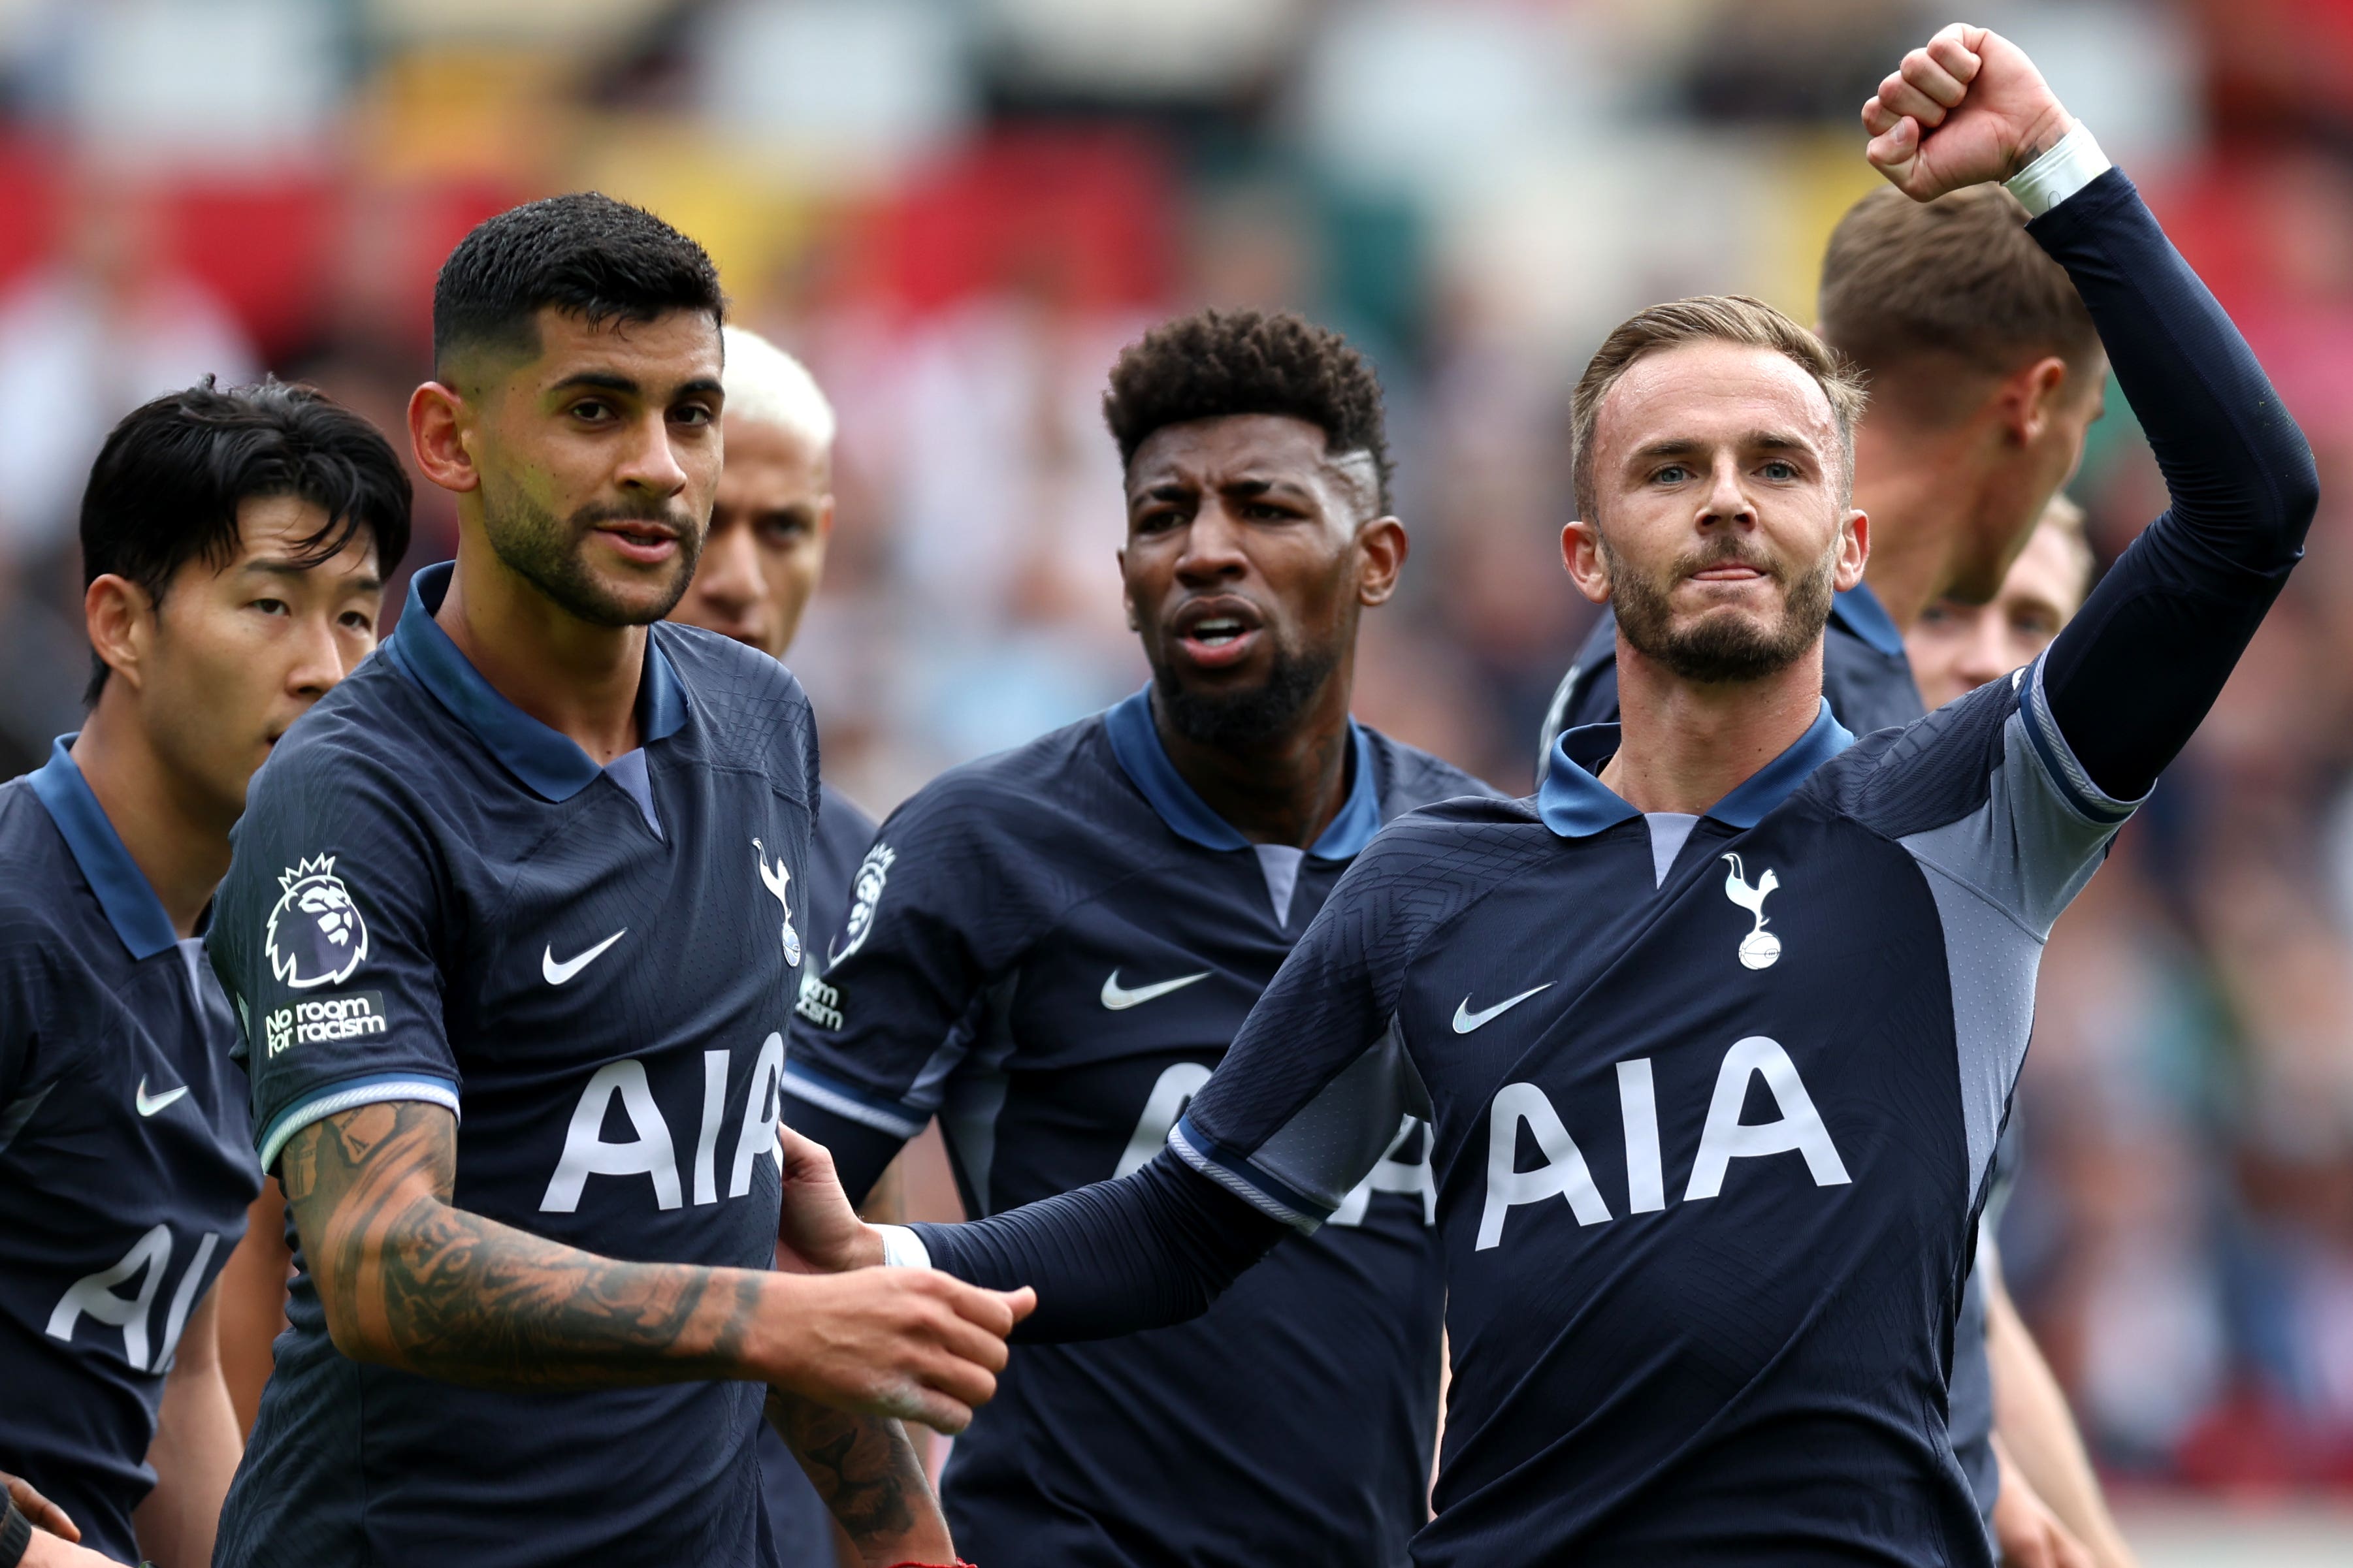
[[[221,390],[205,376],[132,409],[99,447],[82,491],[82,585],[115,574],[162,604],[193,559],[238,555],[238,505],[299,496],[327,524],[299,541],[306,564],[332,559],[362,529],[376,571],[409,550],[409,475],[372,423],[308,386],[268,378]],[[85,703],[106,686],[92,654]]]

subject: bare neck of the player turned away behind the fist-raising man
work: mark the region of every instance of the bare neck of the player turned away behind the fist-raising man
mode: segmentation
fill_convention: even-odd
[[[1854,505],[1871,517],[1864,581],[1899,630],[1958,578],[1986,489],[1974,451],[1974,425],[1918,428],[1894,409],[1875,409],[1854,435]]]

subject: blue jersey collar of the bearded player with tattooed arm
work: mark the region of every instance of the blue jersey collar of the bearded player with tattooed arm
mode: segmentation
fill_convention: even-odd
[[[456,562],[424,567],[409,578],[409,602],[400,611],[400,625],[384,639],[384,656],[393,668],[449,710],[449,715],[473,731],[473,738],[496,757],[508,773],[520,778],[532,795],[548,802],[565,802],[595,783],[602,773],[588,752],[569,736],[562,736],[532,715],[508,703],[482,679],[449,632],[433,621],[442,597],[449,592],[449,574]],[[645,679],[638,682],[638,736],[652,745],[678,733],[687,722],[687,698],[671,668],[668,654],[645,637]]]

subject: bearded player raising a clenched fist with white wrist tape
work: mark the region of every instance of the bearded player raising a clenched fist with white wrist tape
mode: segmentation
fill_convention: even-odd
[[[1984,28],[1864,110],[1906,195],[2009,179],[2172,489],[2009,679],[1854,741],[1861,388],[1755,301],[1657,306],[1574,397],[1565,555],[1621,724],[1529,802],[1393,823],[1122,1182],[861,1227],[800,1145],[793,1248],[1035,1284],[1026,1333],[1200,1312],[1435,1126],[1454,1382],[1426,1566],[1988,1563],[1946,1378],[2049,924],[2195,731],[2318,505],[2301,433],[2132,183]]]

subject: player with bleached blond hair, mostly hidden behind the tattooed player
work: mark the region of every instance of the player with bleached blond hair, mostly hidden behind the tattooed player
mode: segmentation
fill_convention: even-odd
[[[727,353],[727,416],[720,421],[727,465],[694,583],[671,621],[781,661],[816,592],[833,536],[833,404],[800,360],[760,334],[722,327],[720,343]],[[849,907],[849,879],[875,839],[875,820],[824,780],[816,792],[821,806],[802,907],[809,912],[805,940],[824,952],[835,938],[833,922]],[[802,964],[802,985],[814,980],[816,966]],[[776,1554],[786,1563],[828,1561],[838,1526],[774,1427],[760,1429],[760,1483]]]

